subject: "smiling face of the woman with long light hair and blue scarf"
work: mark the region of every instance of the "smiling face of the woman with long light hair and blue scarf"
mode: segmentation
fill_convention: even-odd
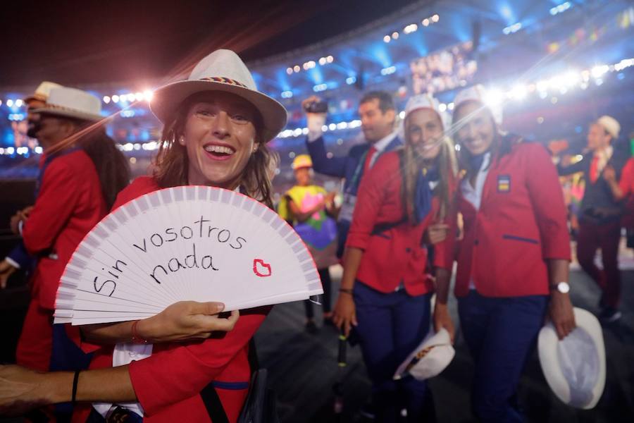
[[[423,159],[437,157],[442,133],[442,121],[433,109],[414,110],[405,119],[406,142]]]

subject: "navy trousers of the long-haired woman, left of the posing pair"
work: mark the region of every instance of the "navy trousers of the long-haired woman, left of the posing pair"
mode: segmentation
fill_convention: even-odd
[[[425,381],[392,377],[429,331],[431,293],[412,297],[404,289],[380,293],[360,281],[354,284],[359,326],[354,329],[372,381],[376,421],[396,422],[407,409],[409,422],[420,422],[431,403]]]

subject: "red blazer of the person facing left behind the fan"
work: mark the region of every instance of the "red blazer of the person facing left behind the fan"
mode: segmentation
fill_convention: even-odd
[[[55,309],[66,263],[107,212],[97,170],[82,149],[49,162],[22,231],[27,251],[39,256],[32,278],[32,296],[38,298],[39,305]]]

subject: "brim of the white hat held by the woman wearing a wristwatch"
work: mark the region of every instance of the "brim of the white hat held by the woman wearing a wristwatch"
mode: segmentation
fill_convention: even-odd
[[[599,373],[596,384],[592,388],[592,399],[588,401],[588,403],[580,405],[580,408],[589,410],[597,405],[605,387],[606,363],[603,332],[601,324],[599,324],[599,321],[592,313],[575,307],[574,314],[577,328],[590,335],[599,358]],[[537,352],[540,357],[542,372],[548,382],[548,386],[550,386],[557,398],[567,405],[573,405],[571,404],[571,392],[570,387],[568,386],[568,381],[566,380],[564,372],[561,369],[561,365],[559,364],[557,343],[559,343],[557,331],[555,331],[552,323],[549,322],[542,327],[537,340]]]

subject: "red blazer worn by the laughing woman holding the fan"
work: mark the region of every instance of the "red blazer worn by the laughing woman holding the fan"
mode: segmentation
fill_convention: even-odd
[[[137,178],[121,191],[113,207],[158,190],[153,178]],[[130,363],[132,386],[144,410],[144,422],[209,422],[200,391],[213,382],[230,422],[236,422],[247,397],[251,369],[248,343],[271,307],[240,311],[234,329],[218,338],[154,345],[152,355]],[[94,350],[83,344],[84,350]],[[112,367],[113,347],[95,351],[91,369]],[[77,407],[73,422],[85,422],[89,404]]]

